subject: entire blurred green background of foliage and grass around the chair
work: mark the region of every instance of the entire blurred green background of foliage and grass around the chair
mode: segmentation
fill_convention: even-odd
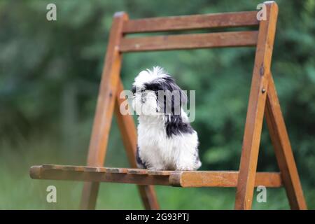
[[[48,3],[57,21],[46,20]],[[29,167],[85,165],[113,13],[130,18],[255,10],[262,1],[0,1],[0,209],[78,209],[82,183],[38,181]],[[309,209],[315,209],[314,0],[277,1],[272,71]],[[165,67],[196,90],[202,169],[237,170],[254,48],[124,55],[121,76]],[[116,120],[106,166],[128,167]],[[259,171],[278,170],[264,123]],[[45,189],[57,187],[57,203]],[[162,209],[233,209],[235,189],[156,187]],[[255,192],[257,195],[257,192]],[[253,209],[288,209],[283,188],[268,189]],[[97,209],[143,209],[137,187],[102,183]]]

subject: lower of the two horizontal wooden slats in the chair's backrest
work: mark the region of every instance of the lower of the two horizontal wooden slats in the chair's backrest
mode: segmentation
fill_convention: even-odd
[[[255,46],[258,31],[178,34],[123,38],[120,52]]]

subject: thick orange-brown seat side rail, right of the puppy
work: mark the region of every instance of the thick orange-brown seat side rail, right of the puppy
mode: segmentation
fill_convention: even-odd
[[[171,185],[183,188],[225,187],[237,186],[239,172],[183,172],[170,176]],[[178,177],[178,175],[181,175]],[[258,172],[255,177],[255,186],[279,188],[282,186],[281,174],[272,172]]]

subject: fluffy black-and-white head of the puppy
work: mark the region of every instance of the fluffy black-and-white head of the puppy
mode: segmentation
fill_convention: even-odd
[[[180,115],[186,94],[169,73],[159,66],[141,71],[132,85],[132,107],[137,115]]]

